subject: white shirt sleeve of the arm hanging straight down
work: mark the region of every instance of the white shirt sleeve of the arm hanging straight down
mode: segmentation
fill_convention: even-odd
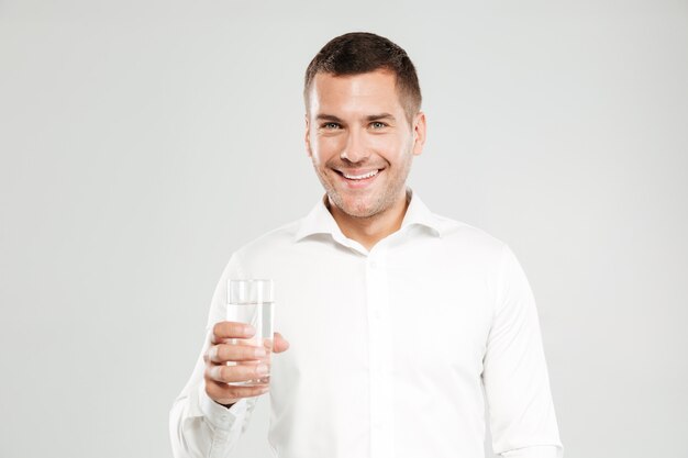
[[[492,449],[504,458],[561,458],[535,300],[507,245],[497,277],[482,371]]]

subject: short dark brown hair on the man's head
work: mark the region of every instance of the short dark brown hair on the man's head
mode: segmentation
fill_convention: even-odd
[[[399,45],[368,32],[352,32],[332,38],[306,69],[303,101],[309,109],[310,89],[318,74],[360,75],[379,69],[397,77],[397,93],[409,124],[421,109],[421,88],[413,63]]]

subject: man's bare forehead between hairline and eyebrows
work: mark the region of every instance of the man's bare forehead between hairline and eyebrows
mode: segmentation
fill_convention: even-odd
[[[310,111],[398,111],[397,77],[387,70],[359,75],[318,74],[310,89]]]

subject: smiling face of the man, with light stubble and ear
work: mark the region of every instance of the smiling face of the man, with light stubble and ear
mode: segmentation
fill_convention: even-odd
[[[354,217],[380,214],[406,196],[425,116],[409,125],[392,72],[318,74],[310,89],[306,147],[331,203]]]

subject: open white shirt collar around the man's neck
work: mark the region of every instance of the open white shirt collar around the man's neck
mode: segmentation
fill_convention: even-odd
[[[323,196],[310,213],[300,221],[296,233],[297,242],[315,234],[330,234],[335,239],[345,238],[325,205],[326,199],[328,194]],[[441,237],[445,228],[444,220],[433,214],[411,188],[407,188],[407,200],[409,200],[409,206],[399,231],[404,231],[412,225],[419,225],[429,228],[433,235]]]

